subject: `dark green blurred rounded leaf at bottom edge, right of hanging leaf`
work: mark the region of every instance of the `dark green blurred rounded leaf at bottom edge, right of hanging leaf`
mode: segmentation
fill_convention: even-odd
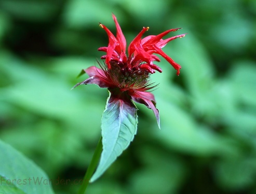
[[[130,193],[176,193],[185,176],[184,163],[153,145],[142,145],[136,152],[143,167],[131,175]]]

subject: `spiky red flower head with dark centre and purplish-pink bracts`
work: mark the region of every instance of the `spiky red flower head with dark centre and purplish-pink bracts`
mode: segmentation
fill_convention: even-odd
[[[114,14],[113,19],[116,25],[116,37],[105,25],[100,24],[100,27],[106,31],[109,37],[109,45],[98,49],[106,52],[106,55],[101,57],[105,59],[105,62],[99,63],[101,68],[92,66],[84,69],[89,78],[77,83],[74,87],[81,84],[97,84],[100,87],[108,88],[112,99],[118,98],[126,102],[132,99],[135,102],[143,103],[154,111],[159,125],[159,113],[155,108],[155,98],[149,92],[149,89],[155,86],[150,84],[148,80],[150,74],[155,73],[155,70],[162,72],[160,67],[153,64],[154,61],[160,61],[154,54],[163,56],[177,70],[179,75],[181,66],[161,49],[169,41],[184,37],[185,34],[162,39],[168,33],[180,29],[174,28],[156,36],[150,35],[142,38],[142,35],[149,29],[149,27],[143,27],[142,31],[131,41],[127,56],[125,36]]]

